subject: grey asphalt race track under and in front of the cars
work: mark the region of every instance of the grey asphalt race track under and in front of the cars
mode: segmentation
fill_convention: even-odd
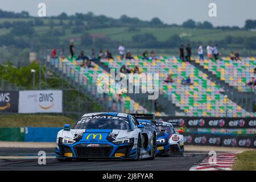
[[[46,165],[38,164],[38,151],[46,151]],[[58,162],[52,148],[0,148],[0,170],[189,170],[207,153],[185,152],[183,155],[156,157],[155,160],[88,160]]]

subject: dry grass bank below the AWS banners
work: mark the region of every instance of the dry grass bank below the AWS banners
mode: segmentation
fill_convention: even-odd
[[[48,114],[7,114],[0,115],[0,127],[63,127],[73,126],[75,119],[63,115]]]

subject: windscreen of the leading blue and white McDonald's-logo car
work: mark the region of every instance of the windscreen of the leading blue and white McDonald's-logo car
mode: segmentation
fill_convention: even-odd
[[[113,129],[129,130],[130,125],[126,118],[80,118],[73,129]]]

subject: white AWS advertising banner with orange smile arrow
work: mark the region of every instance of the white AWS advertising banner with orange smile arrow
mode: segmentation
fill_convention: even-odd
[[[19,113],[62,113],[62,90],[19,92]]]

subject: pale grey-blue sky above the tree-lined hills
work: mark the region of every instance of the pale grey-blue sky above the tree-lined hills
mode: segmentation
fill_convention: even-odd
[[[256,19],[256,0],[0,0],[0,9],[28,11],[36,16],[38,3],[46,3],[47,15],[93,12],[119,18],[125,14],[150,20],[158,17],[164,23],[181,24],[192,18],[208,20],[214,26],[243,26],[246,19]],[[210,18],[208,5],[217,4],[217,17]]]

